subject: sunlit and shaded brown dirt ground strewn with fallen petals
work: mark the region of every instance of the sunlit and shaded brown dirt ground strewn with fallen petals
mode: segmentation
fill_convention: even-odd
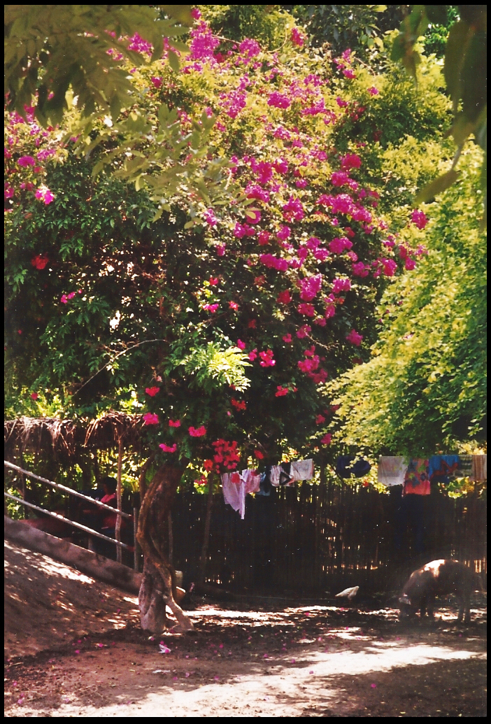
[[[136,598],[6,544],[7,717],[486,716],[484,599],[407,626],[397,611],[236,610],[148,636]]]

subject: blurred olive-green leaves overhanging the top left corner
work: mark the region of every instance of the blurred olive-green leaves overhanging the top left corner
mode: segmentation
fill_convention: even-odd
[[[159,20],[159,11],[168,17]],[[177,21],[192,23],[190,6],[7,5],[4,93],[9,109],[26,118],[24,106],[37,96],[35,117],[42,125],[55,125],[67,109],[71,86],[83,115],[104,111],[117,118],[132,89],[123,61],[146,61],[132,49],[129,36],[138,32],[154,61],[161,57],[164,38],[185,50],[178,38],[188,28]],[[171,51],[169,60],[175,57]]]

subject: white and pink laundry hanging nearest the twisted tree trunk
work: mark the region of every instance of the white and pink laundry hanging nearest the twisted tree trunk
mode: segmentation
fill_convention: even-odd
[[[290,487],[295,481],[311,480],[313,477],[313,460],[295,460],[293,463],[269,465],[266,466],[264,473],[259,473],[255,469],[223,473],[223,497],[228,505],[240,512],[240,518],[243,520],[248,493],[269,496],[272,487]]]

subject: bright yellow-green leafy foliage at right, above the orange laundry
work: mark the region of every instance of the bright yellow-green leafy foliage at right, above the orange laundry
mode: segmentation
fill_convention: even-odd
[[[372,359],[330,389],[337,435],[390,455],[448,452],[482,440],[486,413],[486,238],[479,232],[477,148],[458,182],[432,204],[429,253],[379,307]],[[485,437],[485,433],[484,433]]]

